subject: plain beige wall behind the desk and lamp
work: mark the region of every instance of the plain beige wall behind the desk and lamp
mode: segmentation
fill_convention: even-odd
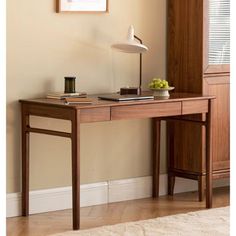
[[[109,2],[107,14],[56,14],[54,1],[7,1],[7,192],[21,188],[18,99],[62,91],[68,75],[77,76],[77,89],[90,94],[136,85],[138,56],[110,48],[130,24],[150,49],[144,55],[144,87],[153,76],[165,78],[166,0]],[[70,129],[51,119],[31,122]],[[81,144],[82,183],[151,174],[149,120],[84,124]],[[31,189],[69,186],[70,141],[34,134],[31,145]]]

